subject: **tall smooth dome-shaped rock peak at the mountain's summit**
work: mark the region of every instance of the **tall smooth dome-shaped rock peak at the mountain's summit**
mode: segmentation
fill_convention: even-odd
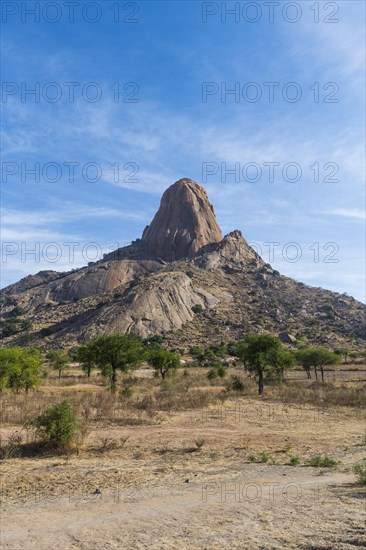
[[[147,250],[168,262],[193,256],[222,239],[215,212],[202,185],[181,179],[165,191],[143,234]]]

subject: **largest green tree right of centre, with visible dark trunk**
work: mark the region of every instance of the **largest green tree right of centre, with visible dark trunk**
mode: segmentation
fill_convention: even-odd
[[[282,380],[294,363],[293,354],[283,348],[281,340],[269,334],[248,334],[237,342],[236,354],[245,370],[258,379],[259,395],[265,379]]]

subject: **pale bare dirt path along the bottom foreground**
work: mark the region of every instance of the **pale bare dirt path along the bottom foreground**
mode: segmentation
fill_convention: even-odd
[[[1,548],[355,548],[366,540],[352,482],[339,472],[253,465],[206,483],[18,504],[2,510]]]

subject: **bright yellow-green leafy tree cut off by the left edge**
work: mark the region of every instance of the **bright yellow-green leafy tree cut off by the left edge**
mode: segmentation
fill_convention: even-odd
[[[12,388],[27,393],[41,383],[43,357],[39,350],[19,347],[0,350],[0,389]]]

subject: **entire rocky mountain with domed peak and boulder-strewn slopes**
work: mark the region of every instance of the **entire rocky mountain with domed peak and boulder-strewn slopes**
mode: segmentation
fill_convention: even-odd
[[[180,347],[248,331],[355,348],[365,338],[363,304],[281,276],[240,231],[222,238],[205,190],[188,179],[164,193],[142,239],[79,270],[26,277],[1,301],[3,328],[15,315],[19,327],[3,344],[72,346],[118,331]]]

